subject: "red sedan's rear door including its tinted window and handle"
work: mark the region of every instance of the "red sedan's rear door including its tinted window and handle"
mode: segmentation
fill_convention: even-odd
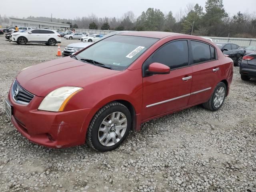
[[[191,40],[192,88],[188,105],[206,101],[220,78],[216,49],[205,42]]]

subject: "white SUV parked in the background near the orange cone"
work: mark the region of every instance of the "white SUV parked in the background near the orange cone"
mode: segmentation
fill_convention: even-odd
[[[56,43],[61,42],[60,34],[50,29],[31,29],[23,33],[16,32],[11,35],[10,40],[20,45],[25,45],[26,43],[44,43],[54,46]]]

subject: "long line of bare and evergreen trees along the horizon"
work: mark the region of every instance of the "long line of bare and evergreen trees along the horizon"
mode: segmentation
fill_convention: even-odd
[[[47,17],[32,16],[27,19],[50,20]],[[256,38],[256,16],[241,12],[229,16],[222,0],[206,0],[204,10],[198,4],[187,4],[175,16],[172,11],[164,14],[159,9],[148,8],[138,17],[128,11],[120,18],[99,18],[91,14],[72,20],[52,18],[52,22],[67,23],[72,28],[83,29],[166,31],[200,36]]]

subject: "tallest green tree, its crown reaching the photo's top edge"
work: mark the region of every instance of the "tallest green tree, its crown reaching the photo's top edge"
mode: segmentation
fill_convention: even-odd
[[[203,20],[205,26],[214,26],[222,22],[222,19],[228,17],[224,10],[222,0],[207,0],[205,4],[206,13]]]

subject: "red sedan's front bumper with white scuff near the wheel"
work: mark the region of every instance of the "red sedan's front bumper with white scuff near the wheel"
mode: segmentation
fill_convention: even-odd
[[[91,108],[66,112],[37,110],[44,98],[34,96],[28,105],[16,103],[11,91],[8,103],[12,106],[11,120],[28,140],[50,148],[64,148],[84,144]],[[87,123],[85,123],[87,122]]]

